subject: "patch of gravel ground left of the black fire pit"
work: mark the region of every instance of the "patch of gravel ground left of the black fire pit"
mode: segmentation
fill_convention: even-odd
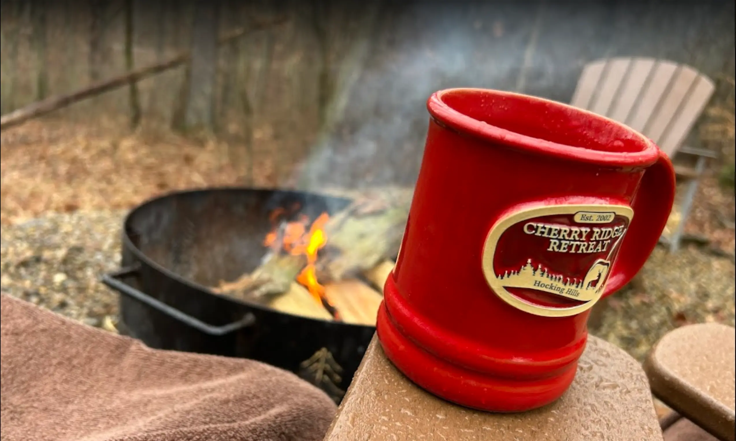
[[[113,330],[117,296],[99,282],[120,260],[124,211],[52,213],[1,229],[1,289]]]

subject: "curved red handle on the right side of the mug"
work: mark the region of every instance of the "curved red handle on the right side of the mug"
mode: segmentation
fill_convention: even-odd
[[[634,217],[601,297],[615,293],[636,276],[667,225],[675,198],[675,170],[667,155],[657,150],[659,158],[644,171],[631,203]]]

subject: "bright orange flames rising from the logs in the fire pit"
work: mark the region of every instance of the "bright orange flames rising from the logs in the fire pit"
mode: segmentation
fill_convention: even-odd
[[[272,212],[270,218],[275,221],[281,214],[282,212]],[[297,276],[297,282],[309,290],[318,304],[321,305],[324,300],[331,306],[325,295],[325,287],[317,281],[316,276],[317,254],[327,244],[325,224],[329,220],[330,216],[323,212],[311,223],[307,232],[309,218],[302,215],[297,221],[286,223],[282,228],[276,228],[266,234],[263,245],[271,248],[283,247],[284,251],[294,256],[304,254],[307,257],[307,265]]]

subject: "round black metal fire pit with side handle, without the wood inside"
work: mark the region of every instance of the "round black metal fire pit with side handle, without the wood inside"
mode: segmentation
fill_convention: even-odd
[[[127,215],[121,269],[102,282],[121,293],[125,333],[149,347],[256,359],[299,374],[339,401],[374,326],[290,315],[218,295],[210,287],[258,266],[273,209],[315,218],[349,203],[246,188],[155,198]]]

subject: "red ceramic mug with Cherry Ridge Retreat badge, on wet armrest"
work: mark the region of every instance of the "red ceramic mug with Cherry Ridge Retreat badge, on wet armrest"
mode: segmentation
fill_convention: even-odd
[[[675,175],[623,124],[566,104],[450,89],[431,121],[378,312],[386,356],[457,404],[517,412],[567,390],[590,307],[659,240]]]

